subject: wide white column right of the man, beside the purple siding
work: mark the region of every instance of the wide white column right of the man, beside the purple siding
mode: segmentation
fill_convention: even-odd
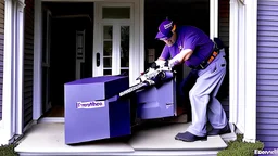
[[[230,0],[230,122],[249,142],[256,139],[256,0]]]

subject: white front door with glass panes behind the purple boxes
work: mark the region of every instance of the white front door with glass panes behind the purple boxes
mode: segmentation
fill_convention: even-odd
[[[100,4],[94,29],[93,76],[129,75],[131,4]]]

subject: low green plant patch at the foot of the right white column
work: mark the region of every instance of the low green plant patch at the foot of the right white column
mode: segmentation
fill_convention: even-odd
[[[249,143],[243,142],[242,139],[242,134],[237,134],[237,140],[228,142],[227,148],[220,151],[217,156],[253,156],[254,150],[264,148],[264,144],[260,141]]]

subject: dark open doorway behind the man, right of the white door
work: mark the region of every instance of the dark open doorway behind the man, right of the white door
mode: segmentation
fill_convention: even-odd
[[[153,61],[155,61],[165,43],[155,40],[155,35],[159,30],[159,25],[164,20],[174,21],[177,26],[181,25],[192,25],[202,29],[205,34],[210,36],[210,0],[162,0],[157,4],[155,0],[146,1],[144,5],[144,44],[146,44],[146,68],[148,68]],[[154,56],[153,55],[154,52]],[[153,58],[151,60],[150,58]],[[180,66],[177,69],[177,84],[185,78],[190,68]],[[194,80],[190,80],[186,87],[187,92],[192,88]],[[177,90],[178,91],[178,90]],[[178,93],[179,94],[179,93]],[[177,96],[178,114],[187,114],[188,121],[191,120],[190,102],[189,95],[178,95]]]

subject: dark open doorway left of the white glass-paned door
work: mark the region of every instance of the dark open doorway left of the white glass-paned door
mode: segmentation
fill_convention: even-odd
[[[42,60],[43,117],[64,117],[64,83],[92,76],[93,3],[46,2],[42,8],[51,15],[43,20],[42,51],[49,52],[49,61]]]

